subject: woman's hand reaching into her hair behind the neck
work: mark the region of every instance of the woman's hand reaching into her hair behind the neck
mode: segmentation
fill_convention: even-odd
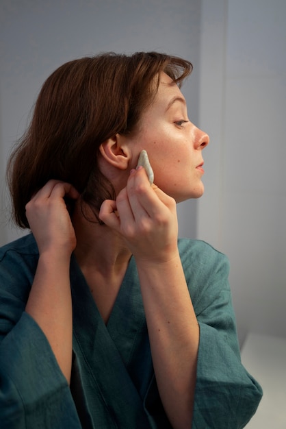
[[[79,198],[77,190],[66,182],[49,180],[26,205],[26,216],[39,253],[53,252],[70,258],[76,237],[64,197]]]

